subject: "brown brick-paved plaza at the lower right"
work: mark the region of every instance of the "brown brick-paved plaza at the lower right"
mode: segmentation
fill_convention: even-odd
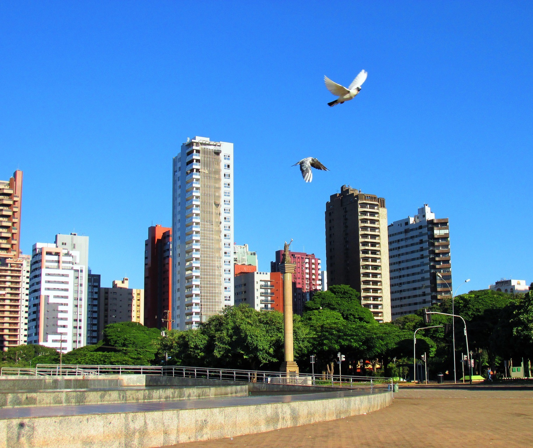
[[[400,389],[391,406],[313,425],[180,448],[533,446],[533,389]]]

